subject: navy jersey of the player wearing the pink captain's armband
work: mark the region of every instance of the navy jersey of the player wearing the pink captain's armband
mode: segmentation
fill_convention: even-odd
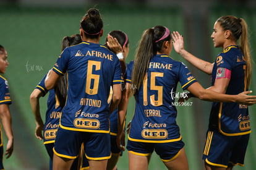
[[[245,68],[246,62],[242,51],[237,46],[228,46],[216,57],[212,72],[214,85],[218,71],[231,71],[226,94],[237,95],[246,89]],[[248,106],[239,103],[213,103],[210,114],[209,128],[218,129],[221,134],[234,136],[250,133],[250,119]]]

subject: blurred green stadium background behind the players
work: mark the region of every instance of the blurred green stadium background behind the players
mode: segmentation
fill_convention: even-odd
[[[255,73],[254,45],[256,44],[256,1],[254,0],[0,0],[0,44],[8,53],[9,67],[4,77],[9,82],[12,104],[14,153],[4,158],[4,167],[11,169],[48,169],[49,158],[43,142],[35,138],[35,119],[29,97],[43,75],[54,66],[61,53],[64,36],[79,33],[79,22],[91,7],[100,10],[104,22],[104,35],[111,30],[122,30],[130,41],[127,63],[134,59],[143,30],[164,25],[184,36],[185,48],[190,53],[209,62],[222,51],[213,48],[210,35],[213,24],[221,15],[235,15],[246,20],[249,26],[252,71]],[[173,50],[171,57],[189,67],[203,87],[210,86],[211,77],[195,69]],[[178,85],[177,92],[182,92]],[[251,90],[256,95],[256,78],[252,74]],[[40,99],[41,115],[45,117],[48,96]],[[211,104],[198,99],[190,100],[192,106],[177,106],[177,124],[181,129],[190,169],[203,169],[202,151]],[[245,166],[234,169],[256,168],[256,106],[250,106],[252,134],[245,158]],[[134,113],[134,99],[129,101],[127,122]],[[4,131],[4,130],[3,130]],[[4,145],[6,144],[5,134]],[[6,147],[5,147],[6,148]],[[127,151],[117,163],[119,170],[128,169]],[[148,169],[166,169],[154,153]]]

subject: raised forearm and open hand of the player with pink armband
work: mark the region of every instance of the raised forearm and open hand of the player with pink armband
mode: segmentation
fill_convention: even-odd
[[[197,69],[202,70],[208,75],[211,74],[214,63],[203,61],[202,59],[199,59],[198,57],[195,57],[194,55],[187,52],[184,49],[183,36],[180,35],[179,32],[173,32],[172,37],[173,37],[173,47],[178,54],[180,54],[184,59],[190,62],[190,64],[197,67]]]

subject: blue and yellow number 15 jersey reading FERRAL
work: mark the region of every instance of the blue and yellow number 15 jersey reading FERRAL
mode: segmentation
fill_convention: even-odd
[[[131,82],[133,62],[127,65],[126,82]],[[166,143],[181,140],[176,124],[177,110],[174,101],[177,83],[186,90],[197,82],[182,62],[166,55],[156,55],[150,60],[147,75],[135,93],[135,112],[129,140],[135,142]]]

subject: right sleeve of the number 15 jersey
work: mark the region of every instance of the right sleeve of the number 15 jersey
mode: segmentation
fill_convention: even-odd
[[[189,69],[187,69],[187,66],[182,62],[179,67],[179,81],[183,90],[186,90],[192,83],[197,82]]]

